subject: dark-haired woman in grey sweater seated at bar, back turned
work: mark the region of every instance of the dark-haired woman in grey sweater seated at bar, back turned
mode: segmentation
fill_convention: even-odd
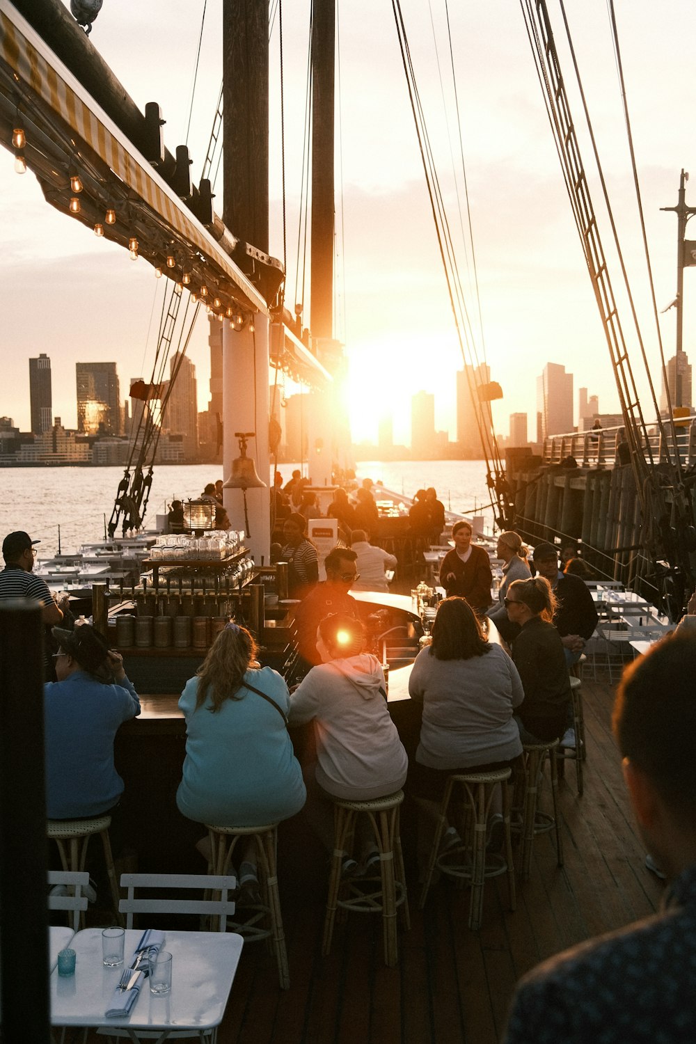
[[[430,816],[453,773],[498,772],[522,754],[512,718],[524,699],[520,674],[503,648],[488,642],[465,598],[437,607],[432,644],[415,658],[408,691],[423,706],[409,787]],[[454,827],[445,843],[458,843]]]

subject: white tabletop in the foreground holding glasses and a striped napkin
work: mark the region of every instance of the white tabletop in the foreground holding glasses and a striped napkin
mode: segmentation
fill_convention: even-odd
[[[142,929],[125,933],[125,963],[142,938]],[[106,1019],[120,968],[101,963],[101,929],[78,931],[70,944],[75,974],[51,973],[51,1023],[54,1026],[130,1026],[134,1029],[208,1029],[222,1021],[243,940],[234,932],[168,931],[163,945],[172,955],[171,993],[150,994],[147,979],[126,1018]]]

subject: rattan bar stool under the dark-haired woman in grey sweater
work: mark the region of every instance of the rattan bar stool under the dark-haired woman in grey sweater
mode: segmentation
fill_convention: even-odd
[[[483,917],[483,886],[486,877],[498,877],[507,873],[507,889],[510,909],[517,906],[514,885],[514,863],[512,861],[512,840],[510,836],[510,794],[507,781],[509,768],[495,773],[453,773],[449,777],[439,812],[433,848],[428,863],[428,872],[421,892],[421,909],[426,904],[435,867],[447,877],[469,881],[472,896],[469,904],[469,927],[477,931]],[[495,784],[503,790],[503,832],[505,856],[488,853],[486,864],[486,830],[493,801]],[[460,802],[463,809],[461,818],[467,824],[469,841],[447,852],[439,852],[442,834],[448,823],[448,808],[456,789],[461,787]],[[463,858],[462,858],[463,856]]]

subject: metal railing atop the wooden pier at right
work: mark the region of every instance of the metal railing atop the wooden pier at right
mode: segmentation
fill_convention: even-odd
[[[649,425],[648,442],[655,464],[674,459],[674,440],[671,428],[665,429],[665,437],[658,426]],[[544,464],[560,464],[573,457],[581,468],[611,468],[619,462],[619,445],[624,441],[622,426],[615,428],[591,428],[589,431],[571,431],[566,434],[549,435],[544,440],[542,451]],[[676,451],[681,465],[696,464],[696,413],[680,417],[675,421]],[[646,459],[647,448],[644,447]],[[626,459],[622,462],[628,462]]]

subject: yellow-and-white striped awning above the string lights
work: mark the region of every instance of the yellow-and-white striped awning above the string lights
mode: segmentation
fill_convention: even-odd
[[[51,123],[55,136],[62,136],[64,146],[78,150],[80,143],[85,143],[125,186],[128,199],[135,197],[140,213],[154,222],[153,228],[171,233],[176,242],[186,243],[197,254],[203,278],[214,282],[220,296],[226,298],[223,304],[229,307],[234,302],[239,308],[268,314],[266,302],[254,283],[8,0],[0,0],[0,70],[4,71],[0,93],[6,103],[27,114],[32,109],[41,110],[42,120]],[[11,147],[9,141],[2,143]],[[31,167],[28,149],[27,165]],[[153,251],[148,256],[142,236],[141,231],[141,256],[155,263]],[[118,236],[113,238],[123,241],[123,234],[120,240]],[[158,245],[161,253],[161,243]]]

